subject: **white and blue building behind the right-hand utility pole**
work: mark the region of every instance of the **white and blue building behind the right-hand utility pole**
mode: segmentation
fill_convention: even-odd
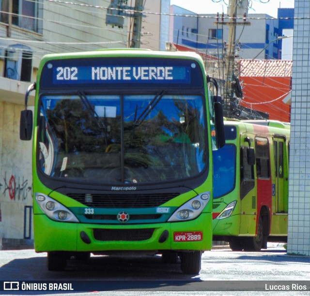
[[[292,22],[285,18],[294,14],[294,9],[279,9],[279,18],[267,14],[250,14],[245,21],[238,16],[236,26],[236,54],[239,59],[281,59],[282,32],[293,29]],[[228,15],[198,15],[172,5],[173,29],[170,40],[203,53],[225,55],[229,40]],[[255,36],[255,38],[253,38]]]

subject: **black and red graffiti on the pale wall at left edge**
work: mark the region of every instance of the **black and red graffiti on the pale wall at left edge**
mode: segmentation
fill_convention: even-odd
[[[4,175],[4,185],[0,184],[0,190],[4,196],[9,196],[11,200],[23,201],[26,200],[28,196],[32,198],[32,184],[28,182],[28,179],[24,177],[17,177],[11,175],[10,178],[6,177],[6,172]],[[4,189],[2,189],[2,187]]]

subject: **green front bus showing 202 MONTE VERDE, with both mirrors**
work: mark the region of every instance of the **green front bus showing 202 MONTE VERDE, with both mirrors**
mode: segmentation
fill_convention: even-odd
[[[49,270],[137,252],[199,273],[212,248],[212,149],[225,144],[212,87],[194,53],[43,57],[20,138],[33,134],[34,245]]]

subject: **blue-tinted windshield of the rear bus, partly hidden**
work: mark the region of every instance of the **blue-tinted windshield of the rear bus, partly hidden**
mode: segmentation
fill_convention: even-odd
[[[231,192],[235,187],[236,147],[226,144],[213,151],[214,198]]]

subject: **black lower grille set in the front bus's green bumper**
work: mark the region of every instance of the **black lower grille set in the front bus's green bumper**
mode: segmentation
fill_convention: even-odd
[[[100,241],[141,241],[152,237],[155,228],[94,229],[93,237]]]

